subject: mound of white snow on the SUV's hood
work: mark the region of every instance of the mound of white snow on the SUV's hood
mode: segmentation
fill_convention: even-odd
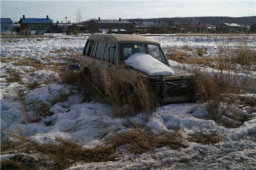
[[[148,54],[136,53],[124,62],[148,76],[172,76],[175,74],[173,69]]]

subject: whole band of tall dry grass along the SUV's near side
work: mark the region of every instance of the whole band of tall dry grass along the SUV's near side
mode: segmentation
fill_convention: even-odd
[[[158,106],[155,95],[147,85],[146,80],[139,78],[133,84],[121,81],[110,72],[103,72],[102,85],[93,82],[91,75],[83,75],[78,71],[65,70],[61,72],[62,83],[77,85],[82,93],[83,101],[91,100],[109,103],[114,108],[114,115],[125,117],[134,115],[138,111],[147,111]],[[123,106],[131,106],[133,109],[123,109]]]

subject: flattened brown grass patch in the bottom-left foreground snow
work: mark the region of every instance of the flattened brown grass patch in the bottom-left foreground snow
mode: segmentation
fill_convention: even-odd
[[[58,144],[31,143],[27,148],[46,154],[54,161],[54,168],[70,167],[75,162],[106,162],[115,161],[115,151],[110,147],[96,147],[84,150],[75,142],[68,139],[56,138]]]

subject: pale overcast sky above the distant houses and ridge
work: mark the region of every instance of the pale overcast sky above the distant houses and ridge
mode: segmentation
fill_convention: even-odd
[[[186,16],[254,16],[255,0],[215,1],[1,1],[1,17],[19,20],[49,15],[55,21],[76,21],[76,11],[81,10],[83,20],[158,18]]]

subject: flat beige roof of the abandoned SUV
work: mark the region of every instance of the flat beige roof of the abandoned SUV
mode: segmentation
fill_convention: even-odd
[[[160,44],[150,38],[139,36],[139,35],[130,35],[130,34],[94,34],[91,35],[88,40],[98,40],[98,41],[110,41],[110,42],[139,42],[147,44]]]

